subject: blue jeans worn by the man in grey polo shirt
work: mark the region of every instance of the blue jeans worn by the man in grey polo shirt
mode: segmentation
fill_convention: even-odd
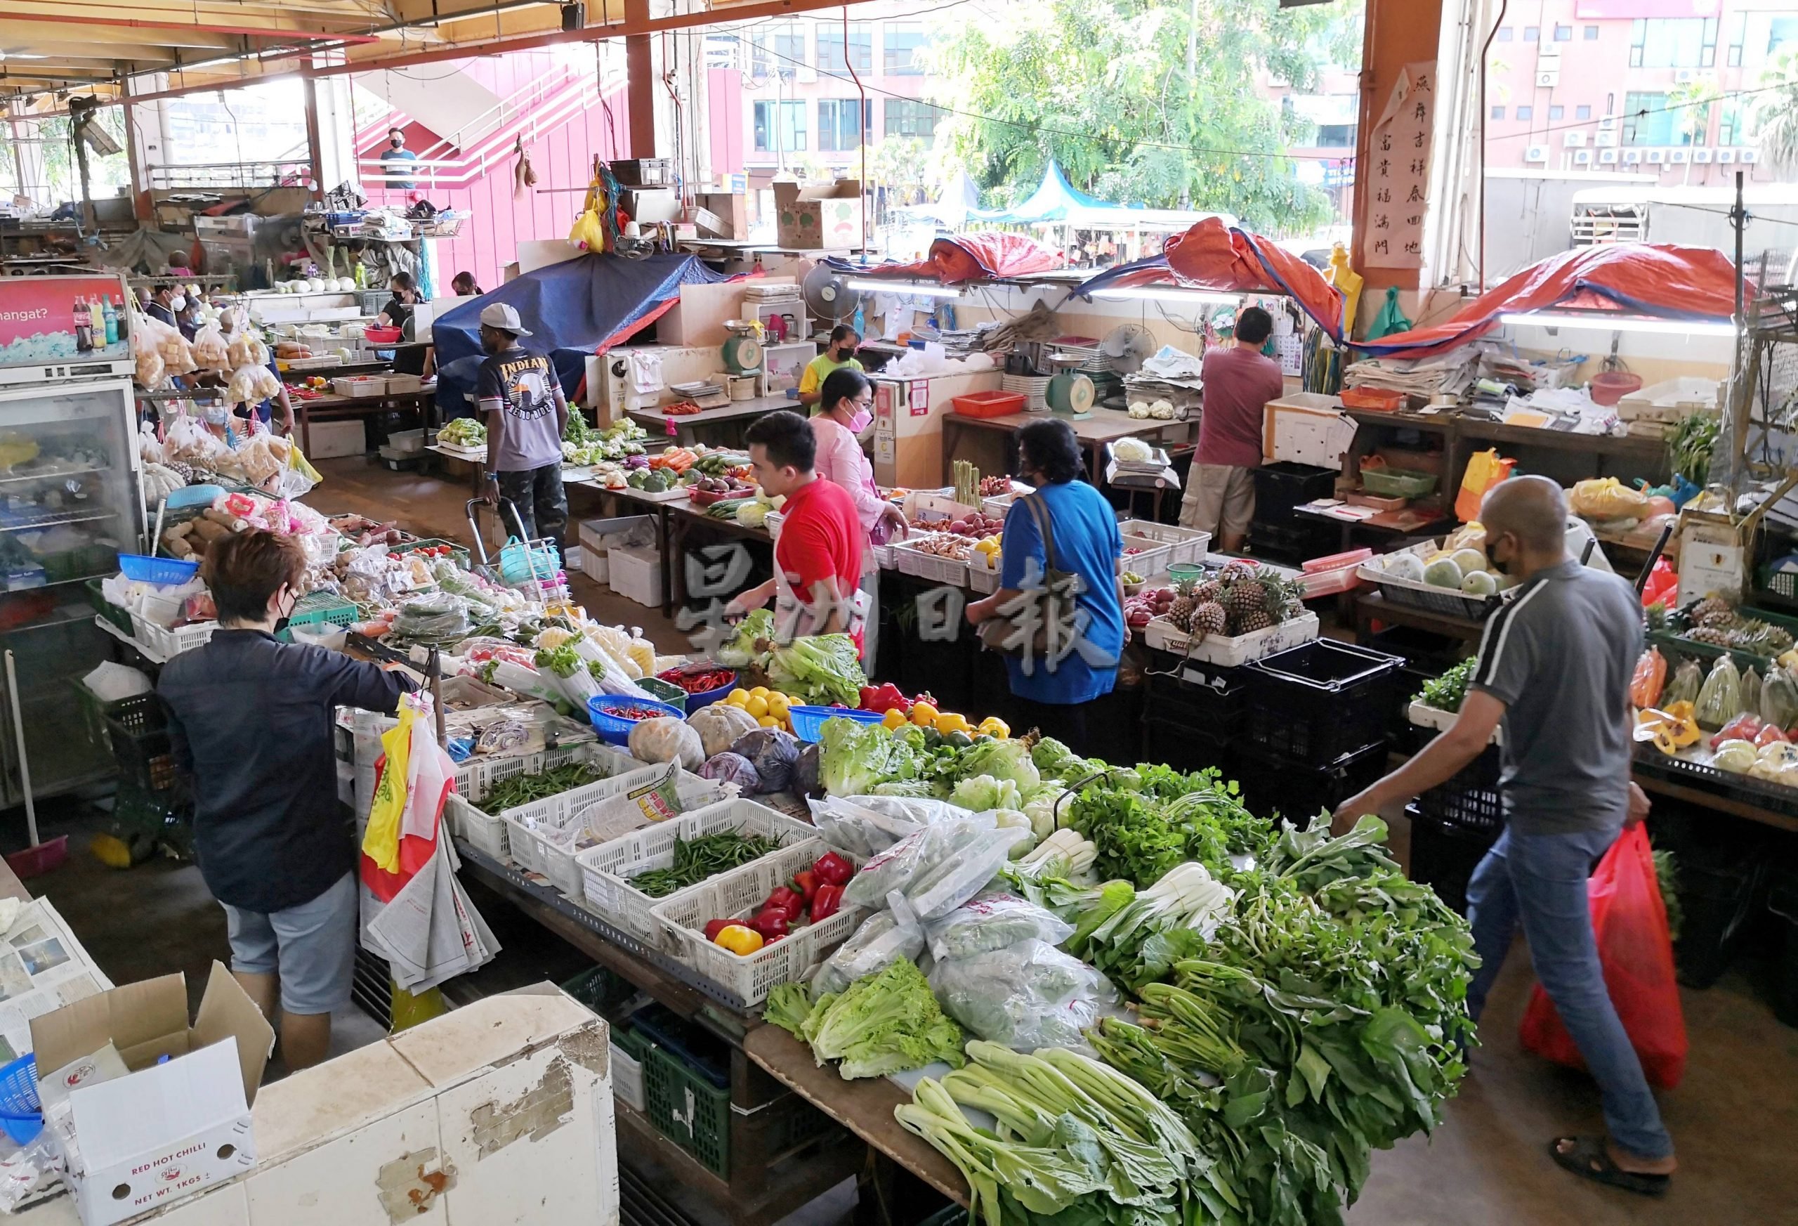
[[[1591,866],[1613,841],[1616,831],[1516,834],[1507,827],[1498,836],[1467,884],[1467,920],[1482,962],[1467,1010],[1480,1019],[1521,920],[1535,978],[1598,1082],[1611,1140],[1631,1154],[1665,1158],[1674,1143],[1604,987],[1586,901]]]

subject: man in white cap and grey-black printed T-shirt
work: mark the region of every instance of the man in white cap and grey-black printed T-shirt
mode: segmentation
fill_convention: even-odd
[[[559,550],[568,527],[561,484],[568,401],[550,360],[520,349],[520,336],[530,333],[509,304],[482,307],[480,347],[487,360],[475,376],[475,401],[487,422],[487,502],[511,500],[525,532],[554,539]]]

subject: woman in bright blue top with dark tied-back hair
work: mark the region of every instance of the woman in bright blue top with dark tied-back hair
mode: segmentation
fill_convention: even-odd
[[[973,626],[1007,618],[1028,631],[1012,600],[1025,591],[1041,593],[1045,572],[1075,575],[1072,649],[1059,660],[1052,654],[1007,656],[1005,669],[1016,699],[1014,728],[1034,724],[1045,735],[1088,746],[1086,703],[1111,692],[1124,653],[1124,582],[1118,577],[1124,536],[1111,503],[1081,480],[1086,462],[1073,426],[1050,419],[1019,430],[1018,464],[1036,493],[1018,498],[1005,512],[1000,590],[971,602],[966,615]],[[1001,611],[1007,606],[1012,613]],[[1034,611],[1043,617],[1048,609],[1037,602]],[[1113,753],[1108,750],[1104,757]]]

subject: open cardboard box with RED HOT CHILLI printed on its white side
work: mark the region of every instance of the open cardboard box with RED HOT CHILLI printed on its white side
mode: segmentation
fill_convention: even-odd
[[[275,1032],[221,964],[192,1025],[185,976],[165,974],[34,1017],[31,1041],[43,1068],[111,1043],[131,1070],[72,1089],[68,1116],[52,1131],[85,1226],[135,1217],[255,1165],[250,1104]]]

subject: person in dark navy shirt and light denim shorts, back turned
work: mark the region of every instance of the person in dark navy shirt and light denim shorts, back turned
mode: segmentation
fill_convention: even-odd
[[[194,795],[200,875],[225,908],[232,974],[280,1030],[289,1070],[325,1059],[356,955],[356,841],[338,813],[334,712],[392,715],[406,674],[282,644],[306,552],[250,529],[201,564],[219,629],[169,660],[156,696]],[[248,721],[255,735],[245,737]]]

